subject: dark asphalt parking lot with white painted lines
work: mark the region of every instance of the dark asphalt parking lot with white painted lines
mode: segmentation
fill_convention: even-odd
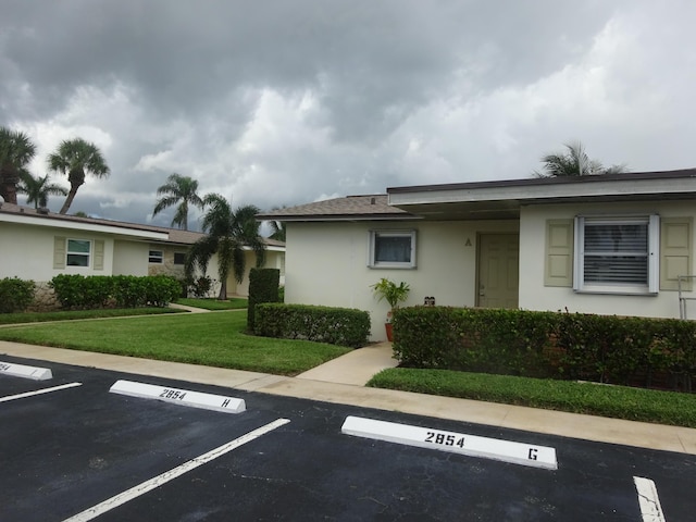
[[[0,374],[2,521],[676,522],[696,512],[693,456],[3,361],[50,368],[53,376]],[[110,393],[120,380],[240,398],[246,411]],[[552,447],[558,469],[346,435],[341,426],[350,415]],[[634,477],[655,485],[662,518],[642,507]]]

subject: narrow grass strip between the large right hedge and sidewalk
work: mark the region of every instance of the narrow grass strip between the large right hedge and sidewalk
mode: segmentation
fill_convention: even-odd
[[[696,427],[695,394],[406,368],[384,370],[368,386]]]

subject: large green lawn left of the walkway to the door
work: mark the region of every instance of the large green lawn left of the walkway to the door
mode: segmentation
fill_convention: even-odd
[[[350,348],[244,333],[246,312],[5,326],[0,339],[278,375],[296,375]]]

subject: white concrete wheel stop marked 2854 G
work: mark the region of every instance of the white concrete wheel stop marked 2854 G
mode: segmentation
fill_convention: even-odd
[[[547,470],[558,469],[556,449],[546,446],[477,437],[359,417],[347,417],[341,433]]]

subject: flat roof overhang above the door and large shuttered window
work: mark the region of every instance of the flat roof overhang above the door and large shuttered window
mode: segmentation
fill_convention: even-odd
[[[511,220],[529,204],[696,199],[696,170],[387,188],[388,203],[432,220]]]

